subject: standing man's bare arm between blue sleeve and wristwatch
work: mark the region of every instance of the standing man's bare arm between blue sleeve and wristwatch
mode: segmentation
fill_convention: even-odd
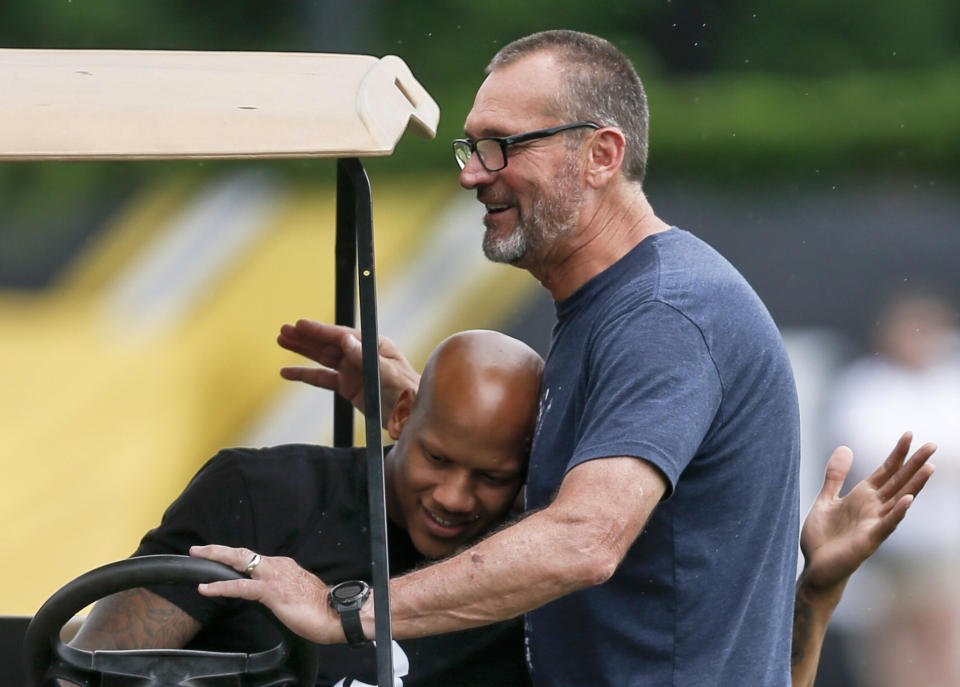
[[[614,496],[609,487],[619,485]],[[574,468],[556,501],[461,554],[391,581],[393,631],[420,637],[485,625],[606,581],[664,483],[635,458]],[[373,636],[372,603],[361,618]]]

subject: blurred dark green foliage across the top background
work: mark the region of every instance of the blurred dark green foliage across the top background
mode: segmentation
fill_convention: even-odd
[[[751,183],[827,171],[955,179],[960,170],[956,0],[0,4],[0,47],[399,55],[440,103],[440,131],[437,141],[407,139],[393,157],[370,160],[378,174],[452,175],[447,141],[461,133],[489,58],[514,38],[560,27],[605,36],[637,64],[650,94],[651,175]],[[183,164],[200,174],[219,168]],[[326,164],[276,166],[291,176],[329,174]],[[109,203],[177,169],[183,166],[0,166],[0,272],[22,257],[11,253],[12,235],[52,226],[55,216],[79,218],[91,197]]]

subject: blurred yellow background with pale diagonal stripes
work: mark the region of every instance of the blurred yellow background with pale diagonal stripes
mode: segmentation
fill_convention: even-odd
[[[450,176],[373,189],[378,291],[394,299],[381,298],[381,332],[418,364],[537,287],[473,250],[479,220],[477,246],[457,251],[466,262],[430,258],[460,231],[438,225],[441,211],[477,205],[456,191]],[[275,337],[298,317],[332,321],[334,207],[333,188],[255,171],[200,187],[177,178],[128,202],[51,288],[0,293],[0,551],[15,561],[0,567],[0,613],[32,614],[129,555],[220,447],[330,441],[323,406],[276,419],[286,394],[330,394],[280,378],[297,357]]]

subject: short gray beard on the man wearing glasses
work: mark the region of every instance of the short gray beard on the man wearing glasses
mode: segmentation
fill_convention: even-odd
[[[579,176],[576,171],[571,156],[551,180],[550,195],[541,193],[534,197],[530,216],[521,216],[508,236],[496,238],[487,227],[483,234],[483,254],[487,260],[516,265],[524,259],[545,255],[557,239],[572,233],[583,200],[583,190],[575,181]]]

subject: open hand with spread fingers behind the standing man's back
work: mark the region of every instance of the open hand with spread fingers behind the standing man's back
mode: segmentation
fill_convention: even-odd
[[[850,575],[903,520],[933,474],[927,459],[937,448],[924,444],[904,463],[912,439],[910,432],[900,437],[883,464],[843,498],[838,496],[853,454],[841,446],[830,456],[823,488],[800,534],[801,581],[807,590],[842,592]]]

